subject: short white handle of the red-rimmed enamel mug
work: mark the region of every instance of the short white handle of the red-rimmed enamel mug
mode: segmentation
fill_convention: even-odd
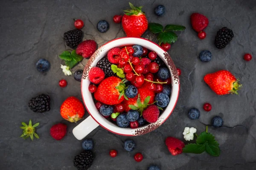
[[[99,124],[92,118],[92,116],[88,116],[73,129],[73,135],[76,139],[81,140],[98,126]]]

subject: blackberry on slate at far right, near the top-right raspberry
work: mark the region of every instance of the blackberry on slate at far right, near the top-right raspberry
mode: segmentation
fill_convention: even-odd
[[[225,48],[234,37],[233,31],[227,27],[219,29],[215,37],[215,46],[219,49]]]

